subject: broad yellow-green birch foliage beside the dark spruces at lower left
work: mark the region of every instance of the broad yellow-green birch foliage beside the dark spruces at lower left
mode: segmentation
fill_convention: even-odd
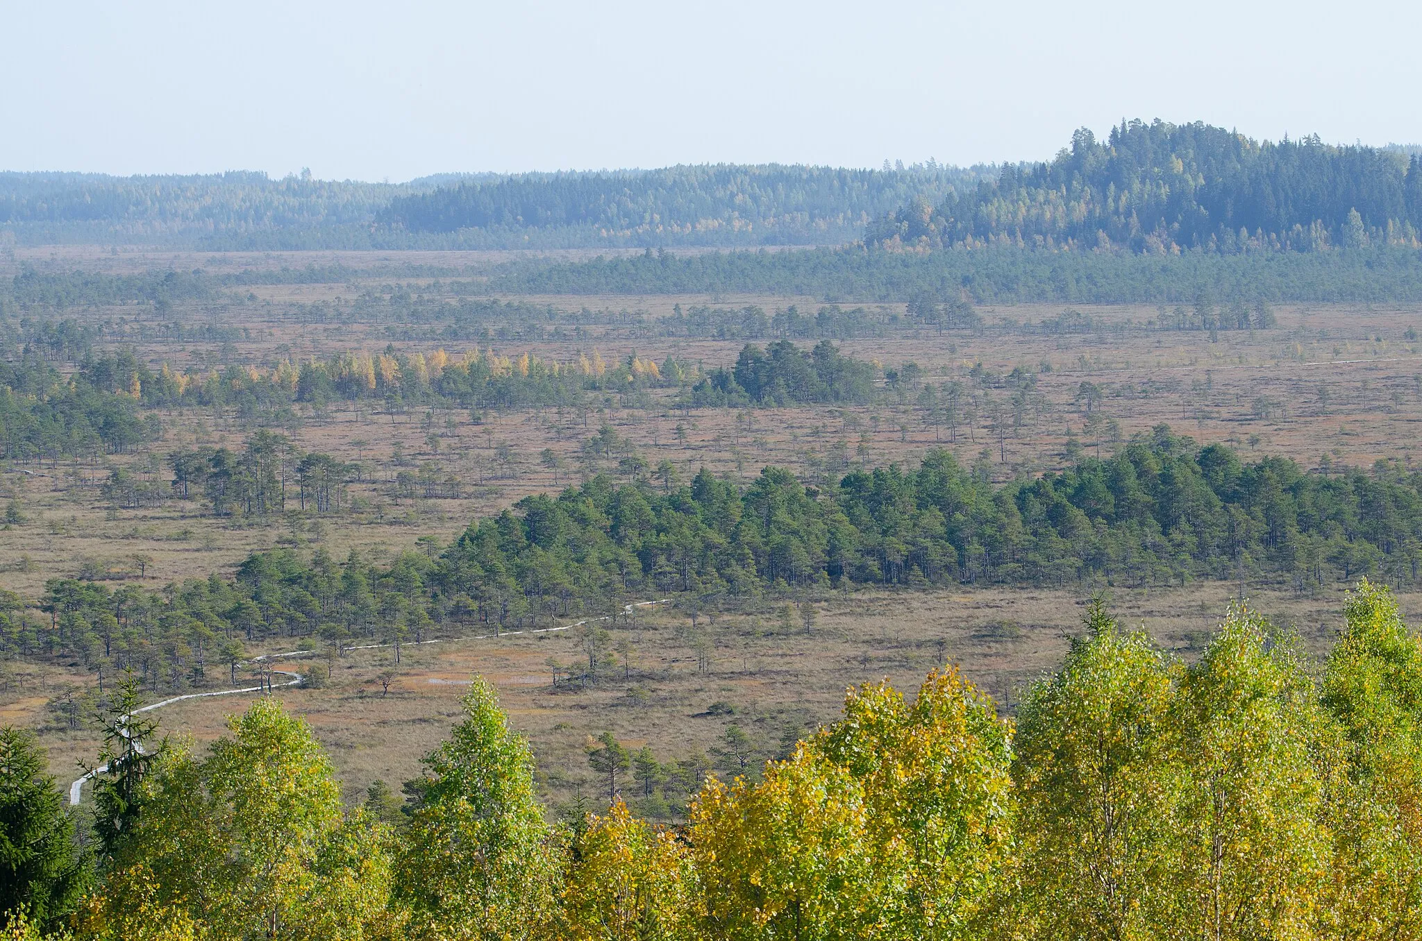
[[[124,840],[101,905],[102,934],[127,911],[181,913],[208,938],[383,937],[390,830],[344,816],[330,760],[274,699],[229,724],[212,756],[169,749],[144,782],[144,813]]]

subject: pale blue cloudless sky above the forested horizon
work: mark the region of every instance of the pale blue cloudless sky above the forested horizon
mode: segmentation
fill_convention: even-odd
[[[1422,141],[1416,0],[0,0],[0,171],[968,165],[1122,118]]]

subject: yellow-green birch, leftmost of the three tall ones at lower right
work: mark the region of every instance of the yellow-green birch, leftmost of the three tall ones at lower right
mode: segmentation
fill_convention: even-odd
[[[1012,772],[1022,888],[1017,915],[1042,937],[1143,938],[1167,915],[1172,671],[1140,631],[1095,603],[1088,634],[1032,687]]]

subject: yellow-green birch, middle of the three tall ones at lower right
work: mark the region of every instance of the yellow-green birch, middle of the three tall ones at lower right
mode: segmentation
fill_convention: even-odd
[[[1314,758],[1328,736],[1297,641],[1233,608],[1182,679],[1172,731],[1185,780],[1169,923],[1209,941],[1311,937],[1330,850]]]

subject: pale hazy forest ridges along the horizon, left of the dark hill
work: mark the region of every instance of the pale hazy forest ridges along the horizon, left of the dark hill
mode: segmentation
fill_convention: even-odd
[[[398,185],[0,173],[0,249],[9,239],[218,252],[840,244],[910,199],[939,200],[994,173],[933,162],[447,173]]]

